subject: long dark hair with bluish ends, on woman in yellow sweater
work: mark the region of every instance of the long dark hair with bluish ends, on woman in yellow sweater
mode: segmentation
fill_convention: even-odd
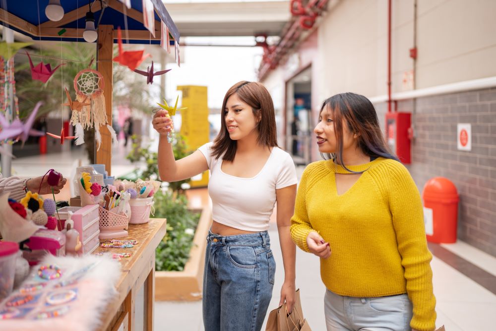
[[[364,154],[399,161],[386,145],[380,131],[377,113],[369,99],[356,93],[341,93],[326,99],[320,107],[319,114],[325,107],[332,111],[337,142],[336,152],[327,154],[327,158],[334,159],[337,164],[350,171],[343,164],[343,120],[345,120],[348,130],[357,134],[358,147]]]

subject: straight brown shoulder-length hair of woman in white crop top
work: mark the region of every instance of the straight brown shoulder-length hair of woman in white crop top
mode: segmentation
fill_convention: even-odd
[[[253,116],[260,121],[256,125],[258,131],[257,143],[261,146],[277,146],[277,131],[274,112],[274,103],[269,91],[263,84],[252,81],[240,81],[227,91],[222,103],[222,114],[226,110],[227,99],[233,94],[238,94],[241,101],[251,107]],[[232,161],[236,155],[238,144],[236,140],[231,139],[227,131],[225,116],[221,117],[221,129],[214,139],[212,146],[212,156],[223,160]]]

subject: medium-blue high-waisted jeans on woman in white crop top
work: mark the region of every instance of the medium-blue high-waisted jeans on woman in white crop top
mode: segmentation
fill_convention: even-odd
[[[203,274],[205,331],[259,331],[276,264],[267,231],[235,236],[209,232]]]

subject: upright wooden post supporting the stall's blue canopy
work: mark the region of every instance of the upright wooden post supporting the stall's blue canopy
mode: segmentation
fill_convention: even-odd
[[[114,27],[112,25],[98,26],[98,71],[105,80],[105,109],[107,121],[112,126],[112,58],[114,55]],[[105,170],[111,175],[112,171],[112,138],[107,127],[100,127],[102,134],[102,144],[100,150],[96,152],[96,163],[105,164]]]

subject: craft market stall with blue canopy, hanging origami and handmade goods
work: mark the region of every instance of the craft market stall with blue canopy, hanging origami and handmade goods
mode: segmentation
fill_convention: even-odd
[[[155,72],[153,64],[151,71],[138,70],[148,55],[127,44],[161,44],[164,52],[175,44],[179,63],[179,31],[159,0],[36,4],[28,9],[23,1],[1,1],[3,30],[40,41],[96,41],[95,61],[71,77],[73,89],[65,89],[63,105],[72,112],[74,135],[63,126],[60,135],[47,134],[63,144],[79,140],[78,129],[94,130],[97,164],[79,167],[69,179],[80,198],[68,207],[58,206],[55,196],[44,199],[27,190],[26,184],[22,199],[0,195],[0,329],[153,330],[155,249],[166,233],[166,220],[149,218],[160,183],[115,182],[111,176],[112,68],[114,62],[127,66],[135,71],[129,74],[145,75],[152,83],[155,74],[167,70]],[[9,156],[6,142],[44,134],[31,128],[40,103],[25,121],[16,114],[11,59],[26,46],[19,44],[10,40],[0,45],[2,162]],[[26,55],[33,79],[46,83],[59,68]],[[61,66],[70,61],[60,60]],[[53,169],[46,176],[49,183],[62,178]]]

